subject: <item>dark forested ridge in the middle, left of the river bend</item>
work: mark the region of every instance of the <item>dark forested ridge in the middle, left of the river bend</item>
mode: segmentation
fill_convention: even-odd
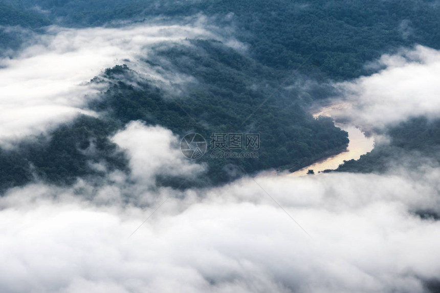
[[[277,90],[282,74],[221,42],[191,40],[191,46],[159,46],[144,62],[167,70],[160,60],[167,60],[175,73],[191,75],[197,82],[183,85],[183,93],[173,95],[126,65],[106,69],[91,80],[108,84],[89,105],[101,114],[100,118],[82,116],[50,133],[46,142],[44,137],[31,137],[16,150],[3,151],[0,168],[8,174],[2,176],[2,187],[25,184],[35,177],[65,185],[78,176],[104,175],[93,168],[94,163],[105,162],[108,171],[127,171],[124,154],[109,137],[135,120],[166,127],[180,137],[188,132],[201,133],[208,142],[212,133],[260,135],[258,159],[212,159],[207,153],[197,161],[207,164],[207,173],[188,183],[192,186],[227,183],[243,172],[295,170],[341,151],[348,143],[347,133],[336,128],[331,119],[316,120],[304,110],[311,101],[303,99],[300,88]],[[317,85],[315,90],[322,89]],[[84,154],[91,145],[97,151]],[[235,175],[231,175],[231,167]],[[164,185],[177,186],[174,178],[157,179]]]

